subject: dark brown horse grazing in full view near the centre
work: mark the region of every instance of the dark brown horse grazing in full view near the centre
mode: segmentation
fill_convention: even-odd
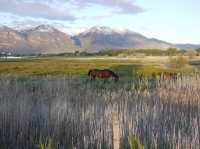
[[[95,80],[96,78],[110,77],[113,77],[116,82],[119,80],[119,76],[110,69],[91,69],[88,72],[88,76],[91,80]]]

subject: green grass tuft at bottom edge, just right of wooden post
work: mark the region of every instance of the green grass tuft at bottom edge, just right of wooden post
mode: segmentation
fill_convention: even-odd
[[[128,142],[131,149],[143,149],[143,145],[140,143],[140,140],[138,137],[130,135],[128,137]]]

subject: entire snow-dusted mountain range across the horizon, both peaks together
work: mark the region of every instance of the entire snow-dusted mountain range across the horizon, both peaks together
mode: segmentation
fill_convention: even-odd
[[[188,45],[177,45],[181,48],[184,46],[188,48]],[[189,45],[191,46],[193,45]],[[176,45],[147,38],[130,30],[116,30],[109,27],[96,26],[73,35],[49,25],[20,30],[7,26],[0,27],[0,52],[12,54],[98,52],[106,49],[165,50],[174,47]]]

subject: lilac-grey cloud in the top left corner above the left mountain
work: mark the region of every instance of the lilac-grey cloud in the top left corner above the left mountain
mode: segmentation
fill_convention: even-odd
[[[21,17],[44,18],[48,20],[75,20],[69,11],[52,7],[50,1],[1,0],[0,12]]]

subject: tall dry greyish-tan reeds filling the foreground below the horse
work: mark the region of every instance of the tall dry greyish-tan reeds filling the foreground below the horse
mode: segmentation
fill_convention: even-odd
[[[112,149],[117,129],[122,149],[129,136],[144,149],[200,148],[200,77],[124,82],[1,76],[0,147]]]

